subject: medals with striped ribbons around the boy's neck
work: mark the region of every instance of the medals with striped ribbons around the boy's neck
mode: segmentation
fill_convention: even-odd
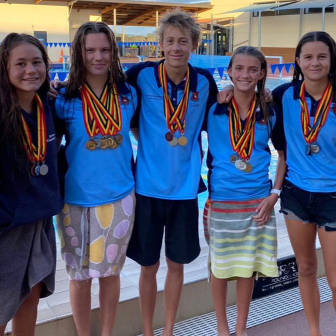
[[[174,105],[169,96],[167,76],[165,72],[164,63],[161,63],[158,66],[158,77],[160,80],[161,87],[163,89],[164,117],[167,128],[169,130],[167,133],[165,133],[164,137],[168,141],[168,143],[173,147],[178,144],[180,146],[185,146],[188,143],[188,139],[184,134],[186,127],[186,114],[187,114],[189,91],[190,91],[189,68],[187,69],[184,93],[176,109],[174,108]],[[181,133],[180,137],[175,136],[177,130],[180,130]]]

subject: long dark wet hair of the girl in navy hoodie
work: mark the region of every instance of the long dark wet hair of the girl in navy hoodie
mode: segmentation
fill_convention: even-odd
[[[10,81],[8,67],[11,51],[22,43],[32,44],[42,54],[47,71],[46,79],[39,89],[42,94],[49,91],[48,70],[51,64],[44,45],[33,36],[11,33],[0,45],[0,143],[11,148],[11,154],[17,163],[28,162],[28,157],[24,149],[22,109],[16,87]]]

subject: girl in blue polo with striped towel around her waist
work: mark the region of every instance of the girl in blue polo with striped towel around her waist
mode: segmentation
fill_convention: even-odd
[[[246,336],[254,278],[278,276],[273,207],[285,171],[283,130],[276,106],[265,103],[264,55],[256,48],[240,47],[232,55],[228,73],[234,96],[229,104],[213,105],[208,116],[209,199],[204,230],[210,245],[218,334],[230,335],[227,281],[237,279],[236,335]],[[279,155],[274,189],[268,178],[270,137]]]

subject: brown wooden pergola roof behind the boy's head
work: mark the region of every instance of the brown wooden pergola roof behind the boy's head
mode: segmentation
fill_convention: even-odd
[[[47,5],[53,2],[64,3],[74,11],[94,10],[102,15],[102,21],[108,25],[118,26],[155,26],[160,14],[169,9],[179,7],[192,13],[201,13],[212,9],[210,2],[188,1],[179,2],[155,2],[155,1],[133,1],[133,0],[35,0],[36,5]]]

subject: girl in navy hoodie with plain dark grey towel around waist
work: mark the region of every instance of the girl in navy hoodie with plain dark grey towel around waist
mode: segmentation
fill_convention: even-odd
[[[55,287],[52,216],[63,204],[48,64],[32,36],[0,46],[0,334],[13,318],[13,334],[33,336],[39,299]]]

